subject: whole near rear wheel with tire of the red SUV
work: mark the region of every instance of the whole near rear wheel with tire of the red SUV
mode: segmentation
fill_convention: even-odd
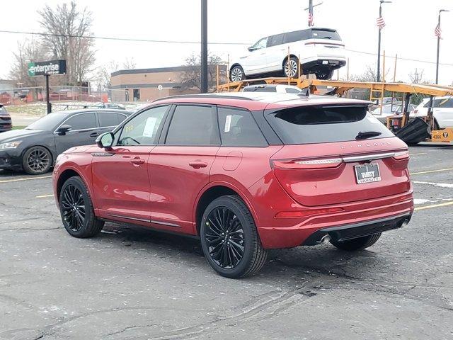
[[[252,275],[267,259],[253,217],[239,196],[222,196],[207,206],[200,239],[207,262],[226,278]]]

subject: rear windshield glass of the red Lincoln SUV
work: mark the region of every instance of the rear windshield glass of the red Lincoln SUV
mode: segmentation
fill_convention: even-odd
[[[372,138],[394,136],[365,106],[296,106],[265,118],[286,145],[345,142],[356,140],[359,132],[380,132]]]

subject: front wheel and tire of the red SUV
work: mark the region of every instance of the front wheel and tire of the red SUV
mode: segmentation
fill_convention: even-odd
[[[94,215],[88,188],[79,176],[64,182],[59,196],[59,211],[64,228],[71,236],[93,237],[104,227],[104,221]]]

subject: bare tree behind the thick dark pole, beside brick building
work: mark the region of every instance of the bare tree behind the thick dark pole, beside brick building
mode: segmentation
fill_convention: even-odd
[[[181,77],[182,89],[201,90],[201,57],[190,55],[185,60],[187,70]],[[207,59],[207,86],[210,91],[215,89],[217,84],[217,65],[219,65],[219,84],[226,81],[226,64],[218,55],[208,55]]]

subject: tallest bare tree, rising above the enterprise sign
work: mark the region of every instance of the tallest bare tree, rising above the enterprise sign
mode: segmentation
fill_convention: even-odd
[[[52,57],[67,60],[67,82],[77,84],[86,79],[95,62],[93,45],[89,35],[93,23],[92,14],[87,8],[79,10],[76,2],[59,4],[55,8],[45,5],[38,11],[40,25],[46,35],[45,46]]]

